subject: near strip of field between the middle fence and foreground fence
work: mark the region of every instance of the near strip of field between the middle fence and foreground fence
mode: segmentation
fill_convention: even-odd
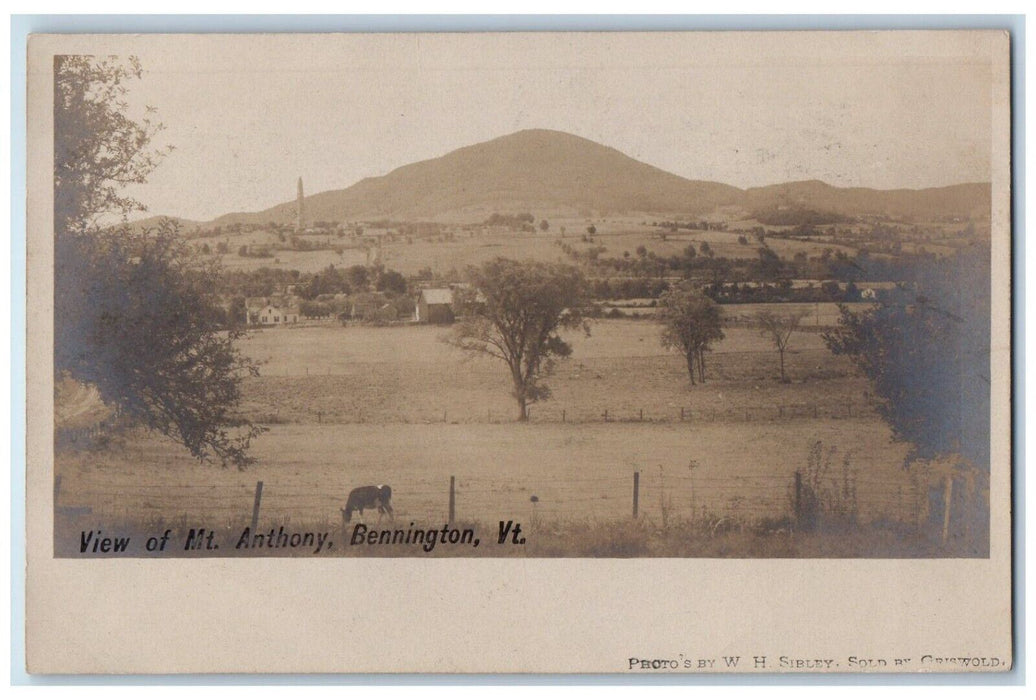
[[[355,486],[390,484],[397,520],[439,525],[456,476],[458,520],[622,520],[631,516],[640,471],[641,517],[709,514],[786,518],[796,470],[810,445],[837,449],[830,478],[848,456],[859,517],[910,520],[916,494],[902,445],[873,418],[752,425],[274,426],[246,471],[200,465],[164,438],[134,436],[104,453],[58,461],[60,504],[89,506],[81,523],[137,517],[224,525],[247,518],[264,483],[264,523],[340,522]],[[533,496],[538,497],[534,503]],[[367,514],[367,521],[374,514]],[[374,518],[376,520],[376,517]]]

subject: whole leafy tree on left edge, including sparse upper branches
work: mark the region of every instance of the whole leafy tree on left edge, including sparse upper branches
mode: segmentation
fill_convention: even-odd
[[[255,368],[225,329],[219,269],[191,254],[171,222],[140,231],[124,186],[161,161],[151,111],[133,118],[134,60],[59,56],[54,63],[54,371],[92,384],[120,415],[195,457],[250,462],[262,429],[235,409]],[[121,223],[120,223],[121,222]]]

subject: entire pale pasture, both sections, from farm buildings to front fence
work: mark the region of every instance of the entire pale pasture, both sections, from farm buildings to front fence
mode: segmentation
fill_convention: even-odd
[[[792,382],[781,384],[766,341],[728,328],[708,383],[691,386],[656,324],[601,321],[571,337],[572,357],[548,380],[553,399],[520,425],[502,363],[465,355],[441,341],[448,332],[257,331],[243,343],[263,361],[244,386],[244,412],[269,427],[254,443],[256,464],[198,464],[142,432],[104,449],[59,450],[59,504],[91,511],[59,542],[106,522],[232,528],[247,523],[257,480],[262,525],[337,528],[350,489],[390,484],[397,524],[439,527],[453,476],[458,522],[539,523],[554,554],[566,552],[558,533],[568,527],[630,521],[634,472],[638,522],[651,527],[785,522],[795,473],[811,478],[810,468],[817,488],[852,490],[861,523],[925,517],[923,492],[902,468],[905,446],[815,333],[793,338]],[[817,442],[823,465],[809,463]]]

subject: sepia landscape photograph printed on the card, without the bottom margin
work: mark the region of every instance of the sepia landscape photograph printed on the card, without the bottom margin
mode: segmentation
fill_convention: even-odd
[[[989,64],[631,38],[55,56],[54,555],[988,557]]]

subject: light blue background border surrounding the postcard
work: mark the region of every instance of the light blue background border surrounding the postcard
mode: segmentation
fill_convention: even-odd
[[[150,675],[29,676],[25,672],[25,88],[30,33],[664,31],[759,29],[1004,29],[1011,33],[1014,393],[1014,669],[1005,674],[874,675]],[[1025,668],[1025,18],[1023,16],[12,16],[11,86],[11,684],[1023,684]]]

